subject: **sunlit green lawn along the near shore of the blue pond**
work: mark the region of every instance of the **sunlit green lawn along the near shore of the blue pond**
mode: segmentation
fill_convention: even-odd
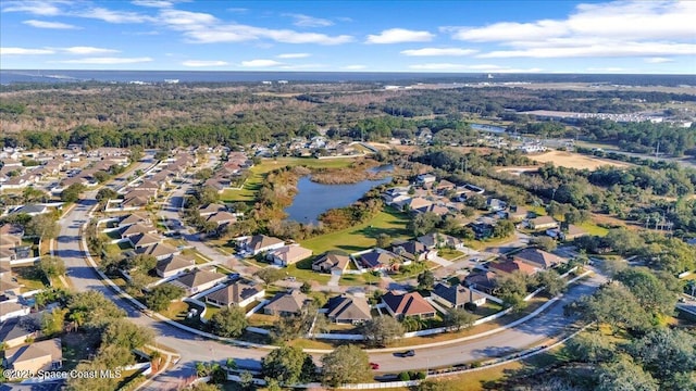
[[[406,214],[387,206],[366,223],[304,240],[301,244],[314,254],[328,250],[353,253],[373,248],[380,234],[386,234],[393,240],[410,238],[411,235],[406,229],[408,222]]]

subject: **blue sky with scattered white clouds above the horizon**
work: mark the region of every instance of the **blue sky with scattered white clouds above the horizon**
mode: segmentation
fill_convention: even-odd
[[[3,70],[696,73],[696,1],[3,0]]]

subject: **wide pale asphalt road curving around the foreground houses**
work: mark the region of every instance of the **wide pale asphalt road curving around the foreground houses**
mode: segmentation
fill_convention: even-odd
[[[152,328],[158,343],[178,351],[182,356],[181,362],[165,375],[159,376],[157,381],[150,383],[147,389],[171,388],[177,379],[190,376],[195,363],[201,361],[224,361],[227,357],[234,357],[240,367],[259,368],[260,360],[266,354],[266,350],[240,348],[208,340],[177,327],[151,319],[135,310],[127,300],[120,298],[102,283],[96,270],[87,264],[87,254],[80,248],[79,228],[89,219],[88,212],[97,203],[95,195],[96,191],[85,193],[83,200],[60,220],[61,232],[57,240],[55,255],[65,262],[67,276],[71,278],[76,291],[98,290],[102,292],[107,298],[124,308],[132,321]],[[381,371],[396,373],[407,369],[455,365],[522,350],[561,332],[572,321],[572,319],[563,317],[563,305],[583,294],[592,293],[601,282],[602,278],[596,275],[582,281],[549,311],[518,327],[465,342],[415,349],[417,354],[413,357],[398,357],[394,353],[380,352],[371,353],[370,360],[380,364]]]

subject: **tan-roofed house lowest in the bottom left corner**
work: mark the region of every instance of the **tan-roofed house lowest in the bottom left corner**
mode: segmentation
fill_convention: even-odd
[[[8,369],[37,374],[39,370],[55,370],[63,366],[61,339],[53,338],[16,346],[4,351],[2,364]]]

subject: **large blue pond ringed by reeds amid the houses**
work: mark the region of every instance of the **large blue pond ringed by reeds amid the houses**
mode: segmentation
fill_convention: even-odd
[[[302,224],[316,224],[320,214],[334,207],[344,207],[358,201],[368,190],[391,178],[363,180],[348,185],[323,185],[309,179],[308,176],[297,182],[297,195],[293,204],[285,209],[287,218]]]

